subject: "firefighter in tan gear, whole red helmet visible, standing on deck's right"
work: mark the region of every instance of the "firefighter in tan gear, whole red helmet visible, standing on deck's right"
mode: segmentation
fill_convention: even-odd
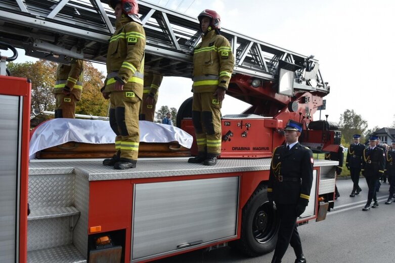
[[[231,45],[220,35],[221,17],[204,10],[198,16],[202,41],[193,54],[192,121],[198,155],[189,163],[215,165],[221,154],[221,107],[232,76],[235,58]]]

